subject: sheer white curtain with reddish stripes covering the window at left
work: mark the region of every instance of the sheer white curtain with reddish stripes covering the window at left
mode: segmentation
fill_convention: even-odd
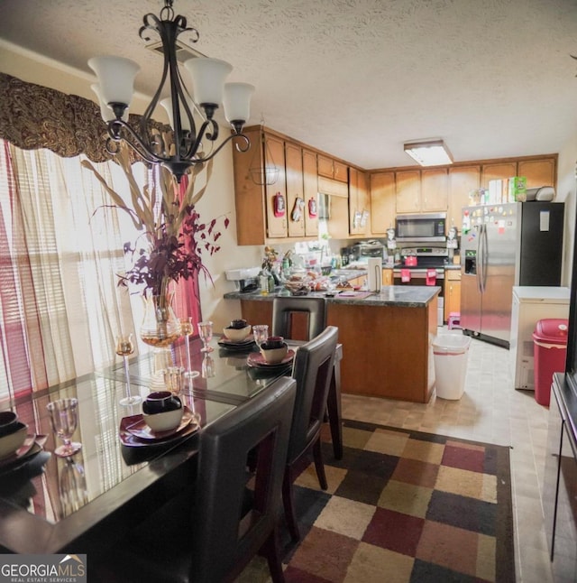
[[[114,336],[137,332],[140,298],[117,286],[138,233],[81,157],[0,141],[0,397],[40,390],[114,361]],[[141,180],[147,171],[140,166]],[[114,162],[98,171],[121,196]],[[179,286],[179,315],[200,315],[197,282]],[[146,350],[139,344],[139,350]]]

